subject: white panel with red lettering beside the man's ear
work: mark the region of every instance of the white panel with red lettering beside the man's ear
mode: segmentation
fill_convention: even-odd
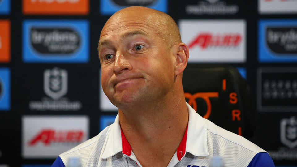
[[[182,41],[190,49],[189,62],[245,62],[244,20],[181,20]]]

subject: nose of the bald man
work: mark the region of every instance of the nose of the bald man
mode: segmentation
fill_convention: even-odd
[[[129,71],[131,69],[132,67],[127,57],[121,53],[116,54],[114,61],[114,72],[123,73],[124,71]]]

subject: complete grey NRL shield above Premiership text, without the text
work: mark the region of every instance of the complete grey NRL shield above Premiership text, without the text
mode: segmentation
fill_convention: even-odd
[[[55,67],[44,71],[44,92],[54,100],[67,93],[67,71]]]

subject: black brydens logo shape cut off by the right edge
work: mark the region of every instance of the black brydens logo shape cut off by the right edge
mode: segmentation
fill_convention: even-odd
[[[277,54],[297,54],[297,27],[267,27],[266,44]]]

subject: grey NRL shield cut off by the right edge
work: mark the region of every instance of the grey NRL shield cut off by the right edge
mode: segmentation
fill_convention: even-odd
[[[292,116],[288,119],[282,119],[281,123],[281,142],[289,148],[297,146],[297,119]]]

